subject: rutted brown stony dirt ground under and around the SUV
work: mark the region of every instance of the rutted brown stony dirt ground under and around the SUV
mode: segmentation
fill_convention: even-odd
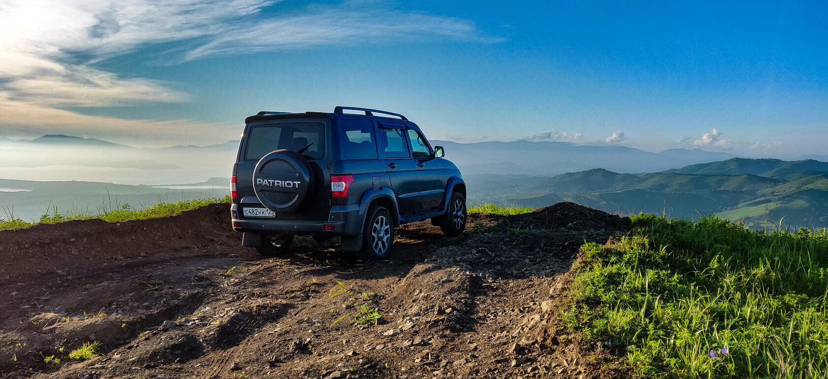
[[[0,378],[627,377],[556,328],[580,245],[626,228],[571,203],[472,214],[460,237],[404,225],[368,265],[310,237],[261,257],[219,204],[3,231]]]

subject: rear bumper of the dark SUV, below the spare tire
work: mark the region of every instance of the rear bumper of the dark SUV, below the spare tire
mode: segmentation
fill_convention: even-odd
[[[259,204],[243,205],[263,208]],[[362,233],[363,229],[363,220],[360,219],[360,204],[331,206],[327,221],[243,218],[241,217],[239,204],[230,206],[230,214],[233,218],[233,230],[236,232],[353,236]]]

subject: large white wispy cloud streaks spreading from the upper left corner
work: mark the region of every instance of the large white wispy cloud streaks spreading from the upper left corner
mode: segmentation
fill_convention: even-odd
[[[26,108],[176,103],[175,85],[103,70],[103,60],[176,42],[171,64],[327,45],[498,41],[473,22],[382,3],[262,12],[282,0],[0,0],[0,102]],[[7,113],[2,122],[17,122]],[[102,126],[103,127],[103,126]],[[114,125],[113,125],[114,127]]]

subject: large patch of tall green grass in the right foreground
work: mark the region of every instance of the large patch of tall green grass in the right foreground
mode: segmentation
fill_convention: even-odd
[[[582,247],[567,328],[643,377],[828,377],[824,229],[632,218],[627,237]]]

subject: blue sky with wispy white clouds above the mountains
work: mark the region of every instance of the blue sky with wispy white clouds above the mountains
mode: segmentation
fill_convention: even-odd
[[[258,111],[431,139],[828,146],[826,2],[0,0],[0,136],[238,139]]]

